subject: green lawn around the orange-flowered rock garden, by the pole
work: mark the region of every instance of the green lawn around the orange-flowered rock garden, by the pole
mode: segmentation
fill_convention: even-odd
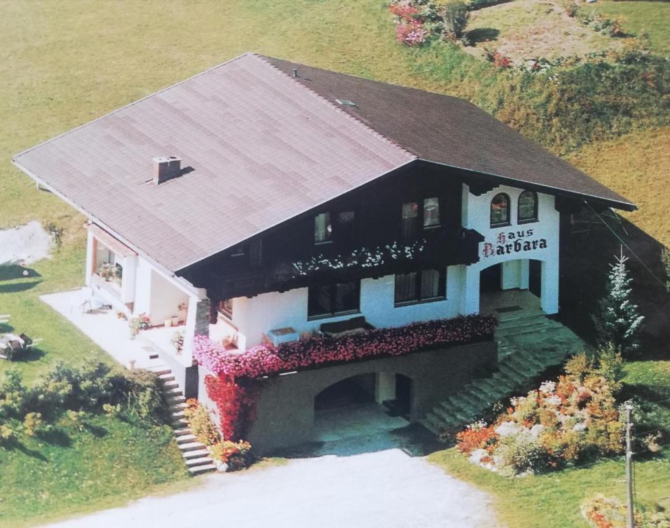
[[[666,442],[670,428],[670,361],[634,362],[626,366],[625,396],[642,402],[645,423],[638,430],[664,428]],[[638,455],[636,462],[636,497],[642,507],[653,508],[661,502],[670,507],[670,448],[662,456],[649,459]],[[500,520],[510,528],[585,528],[579,513],[587,496],[604,493],[625,498],[625,463],[623,459],[601,461],[577,469],[541,476],[505,478],[470,463],[455,448],[429,456],[432,463],[446,472],[494,496],[494,507]]]

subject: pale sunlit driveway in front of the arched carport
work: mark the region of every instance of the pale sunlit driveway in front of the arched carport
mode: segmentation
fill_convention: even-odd
[[[392,433],[320,444],[308,455],[290,455],[295,458],[285,465],[201,476],[187,492],[143,498],[50,527],[496,526],[486,494],[406,450],[406,442]]]

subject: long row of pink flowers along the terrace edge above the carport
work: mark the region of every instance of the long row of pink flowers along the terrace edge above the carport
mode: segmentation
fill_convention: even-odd
[[[231,353],[205,336],[196,336],[193,358],[209,371],[237,379],[260,377],[333,364],[468,343],[490,336],[493,316],[466,316],[418,322],[399,328],[372,329],[353,336],[300,340],[279,347],[260,345]]]

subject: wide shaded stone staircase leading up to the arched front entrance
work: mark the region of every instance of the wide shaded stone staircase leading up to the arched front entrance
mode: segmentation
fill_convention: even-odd
[[[497,401],[506,404],[509,397],[526,393],[542,381],[548,369],[586,347],[572,331],[541,311],[499,314],[495,339],[498,364],[430,410],[420,421],[424,427],[435,434],[461,430],[483,417]]]

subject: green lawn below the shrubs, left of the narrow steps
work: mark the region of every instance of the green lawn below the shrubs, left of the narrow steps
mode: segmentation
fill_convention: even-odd
[[[0,449],[0,527],[19,528],[121,506],[147,492],[185,487],[168,426],[99,416]]]

